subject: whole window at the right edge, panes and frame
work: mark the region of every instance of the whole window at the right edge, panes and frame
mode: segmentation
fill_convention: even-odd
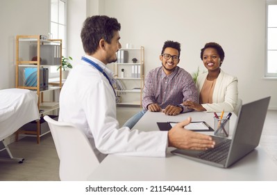
[[[277,0],[267,0],[267,54],[265,77],[277,77]]]

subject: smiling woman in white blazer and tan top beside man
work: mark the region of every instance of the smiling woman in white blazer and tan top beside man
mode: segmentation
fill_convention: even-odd
[[[197,77],[199,104],[191,101],[183,104],[196,111],[234,111],[238,98],[237,77],[221,70],[224,50],[216,42],[208,42],[201,49],[200,56],[208,72]]]

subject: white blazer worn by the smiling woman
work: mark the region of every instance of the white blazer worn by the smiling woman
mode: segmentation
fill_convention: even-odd
[[[208,72],[205,72],[197,77],[196,88],[198,96],[203,87]],[[226,74],[220,70],[219,76],[215,83],[215,89],[212,94],[212,104],[201,104],[207,112],[234,111],[237,105],[237,77]]]

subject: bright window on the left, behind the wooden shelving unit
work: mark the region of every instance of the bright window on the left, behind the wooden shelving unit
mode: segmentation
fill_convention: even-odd
[[[62,56],[67,55],[67,0],[50,1],[50,37],[62,39]],[[51,67],[50,77],[58,77],[56,67]]]

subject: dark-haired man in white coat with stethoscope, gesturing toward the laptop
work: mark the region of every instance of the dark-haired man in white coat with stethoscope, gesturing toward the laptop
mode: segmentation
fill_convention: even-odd
[[[165,157],[168,146],[213,148],[215,141],[210,136],[184,129],[191,118],[169,132],[119,128],[113,74],[106,64],[117,61],[120,28],[117,19],[103,15],[87,17],[83,23],[81,39],[85,56],[62,87],[59,120],[74,123],[85,132],[99,162],[107,154]]]

